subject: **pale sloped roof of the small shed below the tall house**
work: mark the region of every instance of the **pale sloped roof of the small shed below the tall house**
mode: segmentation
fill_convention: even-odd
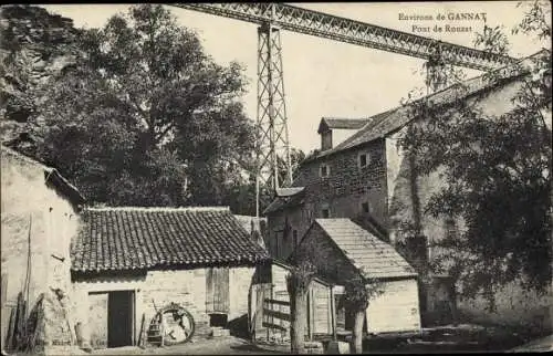
[[[316,219],[316,223],[365,278],[415,276],[413,266],[388,243],[349,219]]]

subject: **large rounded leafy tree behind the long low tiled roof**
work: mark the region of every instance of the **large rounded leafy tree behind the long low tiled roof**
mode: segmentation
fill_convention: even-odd
[[[221,66],[163,6],[83,31],[39,106],[39,155],[109,205],[221,205],[248,182],[253,124],[237,63]]]

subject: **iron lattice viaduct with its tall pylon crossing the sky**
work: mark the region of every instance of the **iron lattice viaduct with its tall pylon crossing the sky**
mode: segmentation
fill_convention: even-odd
[[[259,25],[255,149],[258,216],[260,198],[264,196],[260,193],[261,189],[275,192],[281,185],[292,182],[280,29],[429,60],[429,76],[439,73],[444,63],[489,71],[515,61],[509,56],[280,2],[187,2],[171,6]],[[432,86],[439,87],[444,83],[439,77]],[[285,178],[279,181],[282,170],[285,170]]]

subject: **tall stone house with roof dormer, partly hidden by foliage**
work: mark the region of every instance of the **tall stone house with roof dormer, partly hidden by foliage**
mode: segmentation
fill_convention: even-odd
[[[490,83],[488,76],[482,75],[421,100],[441,105],[452,116],[455,112],[450,107],[460,100],[473,104],[483,115],[502,115],[513,108],[511,100],[523,84],[524,75],[508,69],[498,70],[495,74],[501,77],[498,82]],[[431,125],[413,113],[411,104],[352,119],[352,124],[344,124],[347,119],[321,121],[321,148],[301,164],[291,187],[279,189],[264,211],[269,228],[265,245],[272,256],[286,259],[315,219],[349,218],[380,232],[376,235],[395,245],[419,276],[425,275],[426,261],[439,253],[432,243],[455,232],[459,223],[424,213],[424,207],[444,181],[439,171],[424,177],[414,175],[416,157],[405,155],[398,144],[410,125]],[[333,142],[336,128],[351,133],[340,144]],[[413,237],[406,229],[413,222],[419,223],[419,235]],[[455,296],[448,276],[434,275],[428,283],[427,287],[419,289],[421,312],[448,312],[449,318],[453,317]],[[502,292],[499,293],[504,299]],[[550,300],[536,295],[521,299],[520,293],[507,293],[511,302],[498,305],[495,315],[502,321],[518,323],[530,314],[550,314]],[[486,314],[483,304],[477,304],[462,306]]]

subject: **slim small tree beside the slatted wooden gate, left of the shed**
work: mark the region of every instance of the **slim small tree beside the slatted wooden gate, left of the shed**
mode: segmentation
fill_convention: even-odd
[[[292,354],[304,354],[305,323],[307,321],[307,293],[315,275],[315,268],[302,261],[286,274],[286,289],[290,295],[290,338]]]

